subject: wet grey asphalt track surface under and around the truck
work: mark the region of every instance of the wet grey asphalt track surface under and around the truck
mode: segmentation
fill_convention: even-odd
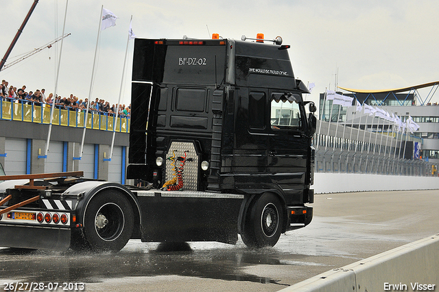
[[[313,207],[308,227],[263,249],[248,249],[240,239],[237,245],[130,240],[118,253],[100,254],[0,248],[0,291],[29,282],[58,283],[56,291],[66,291],[63,283],[84,284],[67,291],[278,291],[439,233],[438,190],[317,194]]]

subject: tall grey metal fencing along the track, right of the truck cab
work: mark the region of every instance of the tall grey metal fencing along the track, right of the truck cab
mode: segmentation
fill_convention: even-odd
[[[407,140],[421,142],[422,139],[418,137],[391,132],[366,131],[365,133],[362,129],[351,127],[347,127],[346,133],[342,131],[337,133],[334,131],[335,125],[327,122],[322,122],[322,125],[325,134],[321,134],[318,139],[316,134],[313,138],[316,148],[314,164],[316,172],[438,176],[437,163],[421,159],[405,159],[405,143]],[[331,128],[328,131],[329,127]],[[351,131],[354,135],[351,135]],[[355,137],[363,138],[357,140]],[[408,156],[412,157],[412,155]]]

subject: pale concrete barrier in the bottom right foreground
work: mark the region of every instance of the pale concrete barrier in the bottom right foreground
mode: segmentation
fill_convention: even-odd
[[[327,271],[281,291],[439,291],[439,234]]]

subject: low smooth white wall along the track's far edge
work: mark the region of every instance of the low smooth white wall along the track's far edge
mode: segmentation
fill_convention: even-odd
[[[316,194],[385,190],[438,190],[439,177],[404,177],[399,175],[320,172],[314,174],[313,188]]]

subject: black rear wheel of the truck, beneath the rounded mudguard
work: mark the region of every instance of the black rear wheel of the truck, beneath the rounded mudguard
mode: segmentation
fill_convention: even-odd
[[[93,251],[119,251],[134,228],[134,212],[128,199],[109,190],[97,194],[85,210],[83,236]]]

